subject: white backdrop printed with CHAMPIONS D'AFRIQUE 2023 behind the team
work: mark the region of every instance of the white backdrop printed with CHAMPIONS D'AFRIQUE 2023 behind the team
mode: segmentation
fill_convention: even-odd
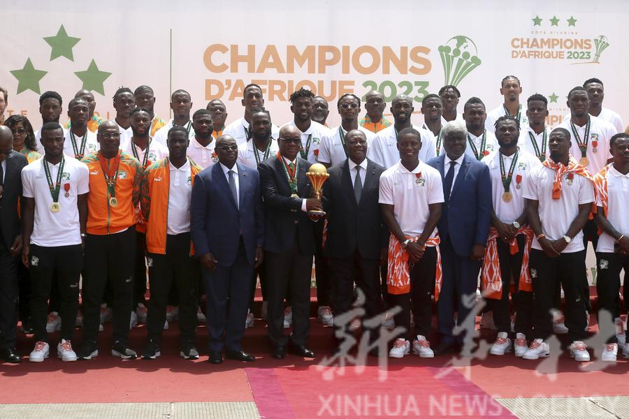
[[[170,92],[181,88],[191,93],[193,110],[222,98],[229,122],[242,115],[241,89],[252,80],[265,89],[276,124],[290,119],[285,99],[302,83],[331,102],[330,124],[338,123],[334,103],[344,91],[362,96],[376,87],[387,98],[409,92],[419,110],[424,94],[453,79],[463,95],[460,111],[470,96],[489,110],[502,102],[500,80],[514,74],[523,103],[535,92],[556,100],[550,124],[567,112],[567,91],[591,77],[605,82],[605,106],[629,123],[621,102],[629,93],[624,0],[3,3],[0,85],[9,91],[8,111],[26,113],[35,127],[38,92],[59,91],[65,108],[84,85],[75,73],[92,60],[110,73],[100,82],[99,73],[90,73],[86,85],[96,89],[103,117],[115,116],[111,97],[118,87],[148,84],[161,117],[169,116]],[[79,39],[72,47],[55,37],[62,25]],[[51,37],[61,46],[51,47],[44,39]],[[598,41],[609,45],[597,50]],[[47,73],[21,71],[29,70],[27,60]]]

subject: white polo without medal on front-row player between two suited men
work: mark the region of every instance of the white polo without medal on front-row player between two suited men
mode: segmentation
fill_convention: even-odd
[[[378,202],[393,205],[393,214],[405,235],[421,235],[430,215],[428,205],[444,202],[439,170],[420,160],[409,172],[398,162],[380,175]],[[435,227],[431,237],[437,233]]]

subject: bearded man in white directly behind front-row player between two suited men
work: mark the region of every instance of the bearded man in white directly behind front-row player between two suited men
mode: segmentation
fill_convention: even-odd
[[[414,111],[412,98],[405,94],[398,94],[391,102],[391,113],[395,123],[376,134],[370,145],[369,158],[384,168],[390,168],[400,161],[398,150],[398,136],[404,128],[413,128],[421,135],[421,149],[419,160],[428,161],[435,157],[435,136],[428,131],[411,123]]]

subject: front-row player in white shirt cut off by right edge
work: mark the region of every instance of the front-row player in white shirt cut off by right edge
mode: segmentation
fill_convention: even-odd
[[[603,168],[594,179],[598,191],[594,220],[602,230],[596,247],[598,327],[601,336],[608,338],[603,346],[601,359],[616,362],[619,345],[623,348],[625,358],[629,358],[627,332],[623,330],[623,321],[616,308],[620,272],[623,269],[629,272],[629,135],[614,135],[611,148],[614,164]],[[625,286],[623,294],[627,304],[629,285]],[[603,321],[605,318],[609,320]]]

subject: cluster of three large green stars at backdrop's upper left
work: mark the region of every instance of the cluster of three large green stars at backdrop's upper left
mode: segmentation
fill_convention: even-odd
[[[70,61],[74,61],[73,48],[81,41],[81,38],[68,36],[64,25],[61,25],[61,27],[59,27],[57,35],[46,36],[42,39],[43,41],[45,41],[45,43],[50,45],[51,48],[49,62],[54,61],[59,57],[64,57],[66,59],[69,59]],[[41,63],[41,61],[44,60],[42,57],[35,57],[34,61],[36,63]],[[83,62],[87,63],[87,60]],[[13,77],[17,79],[17,94],[20,94],[23,91],[27,90],[34,91],[36,94],[41,94],[40,82],[46,75],[48,75],[48,71],[37,69],[35,67],[35,65],[33,64],[33,60],[31,60],[31,57],[27,57],[26,63],[22,68],[11,70],[10,73],[13,75]],[[108,73],[107,71],[101,71],[96,65],[96,61],[94,60],[94,58],[92,58],[92,61],[89,61],[86,70],[75,71],[74,74],[82,83],[81,89],[96,91],[102,95],[105,94],[105,87],[103,86],[103,83],[111,75],[111,73]],[[65,76],[66,75],[64,74],[52,75],[52,77],[55,78]]]

